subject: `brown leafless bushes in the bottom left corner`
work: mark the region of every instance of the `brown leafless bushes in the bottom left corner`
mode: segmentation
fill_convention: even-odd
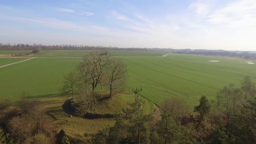
[[[54,143],[55,128],[44,118],[40,102],[26,99],[19,105],[21,114],[14,116],[8,122],[8,130],[15,137],[16,143],[22,143],[25,140],[33,140],[36,143],[35,138],[40,137],[36,134],[44,134],[50,143]]]

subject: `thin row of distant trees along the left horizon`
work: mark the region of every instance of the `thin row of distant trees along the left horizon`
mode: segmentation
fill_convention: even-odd
[[[86,46],[86,45],[42,45],[0,43],[0,50],[33,50],[33,49],[103,49],[103,50],[163,50],[157,48],[118,48],[116,46]]]

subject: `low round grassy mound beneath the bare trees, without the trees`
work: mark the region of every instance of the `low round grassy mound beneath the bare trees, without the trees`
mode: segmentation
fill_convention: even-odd
[[[88,95],[79,95],[76,101],[70,101],[73,115],[83,118],[114,118],[125,115],[123,110],[130,108],[129,104],[135,102],[135,94],[130,92],[121,92],[115,97],[109,99],[109,91],[96,91],[94,104],[88,105]],[[156,106],[145,98],[144,113],[150,114],[154,111]],[[92,103],[92,101],[91,101]]]

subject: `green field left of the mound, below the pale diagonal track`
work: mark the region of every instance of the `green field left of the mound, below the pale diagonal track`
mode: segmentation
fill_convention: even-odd
[[[0,69],[1,97],[18,100],[30,96],[57,94],[66,72],[75,69],[78,59],[31,59]]]

